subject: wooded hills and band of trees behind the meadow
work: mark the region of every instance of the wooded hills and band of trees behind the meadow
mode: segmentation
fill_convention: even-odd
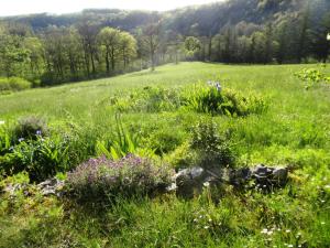
[[[0,76],[35,86],[179,61],[327,61],[328,0],[228,0],[167,12],[85,10],[0,19]]]

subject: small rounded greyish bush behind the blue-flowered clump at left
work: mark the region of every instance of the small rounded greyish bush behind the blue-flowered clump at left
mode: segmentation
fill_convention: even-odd
[[[35,140],[40,136],[46,136],[48,133],[48,128],[44,119],[35,116],[28,116],[19,119],[13,131],[16,139]]]

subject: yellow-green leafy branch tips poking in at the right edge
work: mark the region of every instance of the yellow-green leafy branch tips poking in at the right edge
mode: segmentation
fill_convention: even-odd
[[[295,76],[305,83],[307,90],[319,84],[330,84],[330,76],[316,68],[304,68],[295,73]]]

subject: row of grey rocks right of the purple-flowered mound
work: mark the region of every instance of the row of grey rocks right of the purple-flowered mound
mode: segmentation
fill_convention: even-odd
[[[200,194],[205,186],[217,188],[223,183],[233,185],[237,188],[253,188],[253,185],[255,185],[257,188],[268,192],[285,186],[287,175],[287,168],[271,168],[264,164],[260,164],[254,169],[241,168],[237,170],[196,166],[179,171],[174,176],[174,183],[166,188],[166,192],[175,191],[180,197],[191,198]]]

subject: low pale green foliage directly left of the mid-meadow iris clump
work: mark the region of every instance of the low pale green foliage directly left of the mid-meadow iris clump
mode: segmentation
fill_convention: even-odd
[[[179,94],[176,89],[160,87],[145,87],[129,96],[116,96],[110,103],[120,111],[160,112],[174,110],[180,106]]]

